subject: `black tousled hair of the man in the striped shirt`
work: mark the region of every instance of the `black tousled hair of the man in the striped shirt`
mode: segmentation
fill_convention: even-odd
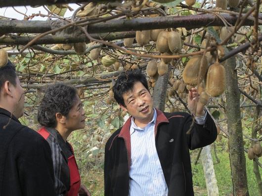
[[[119,75],[113,86],[114,98],[118,104],[126,107],[123,99],[123,94],[133,89],[134,83],[141,82],[144,87],[149,91],[146,76],[141,70],[135,69],[131,71],[126,71]]]

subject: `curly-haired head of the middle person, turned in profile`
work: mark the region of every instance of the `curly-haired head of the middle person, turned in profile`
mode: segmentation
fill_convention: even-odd
[[[63,83],[47,88],[38,109],[38,121],[42,126],[74,131],[85,127],[85,111],[73,86]]]

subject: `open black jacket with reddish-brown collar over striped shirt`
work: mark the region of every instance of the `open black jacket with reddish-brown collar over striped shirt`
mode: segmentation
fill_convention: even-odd
[[[168,196],[194,196],[189,149],[201,148],[217,138],[217,128],[207,114],[204,125],[192,123],[187,113],[157,110],[155,143],[169,189]],[[131,162],[131,118],[108,139],[105,146],[105,196],[129,195]]]

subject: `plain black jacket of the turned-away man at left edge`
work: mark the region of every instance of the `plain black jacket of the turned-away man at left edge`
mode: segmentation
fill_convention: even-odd
[[[0,196],[55,196],[48,143],[0,108]]]

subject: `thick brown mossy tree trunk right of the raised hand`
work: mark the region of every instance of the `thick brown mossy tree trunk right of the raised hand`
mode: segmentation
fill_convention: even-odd
[[[240,92],[237,84],[236,60],[231,57],[225,63],[226,115],[229,134],[229,154],[235,196],[249,196],[244,155],[242,123],[240,116]]]

